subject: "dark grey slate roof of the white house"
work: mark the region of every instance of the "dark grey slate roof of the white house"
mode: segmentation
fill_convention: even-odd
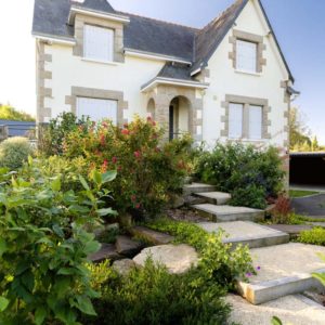
[[[203,29],[196,29],[134,14],[118,12],[115,11],[106,0],[84,0],[83,3],[72,0],[35,0],[32,32],[38,35],[73,38],[74,28],[73,26],[67,25],[72,5],[105,13],[121,14],[130,18],[130,23],[125,26],[123,42],[126,49],[164,54],[179,60],[188,61],[192,63],[192,67],[187,68],[190,74],[200,66],[207,65],[207,62],[235,23],[247,1],[248,0],[236,0],[232,6],[209,23],[206,27]],[[261,8],[265,15],[262,4]],[[273,32],[266,15],[265,18],[270,30]],[[274,39],[277,43],[275,35]],[[278,50],[288,69],[290,78],[294,80],[280,46]],[[168,65],[164,73],[169,75],[174,74],[177,76],[185,75],[184,68],[182,70],[176,67],[171,68]]]

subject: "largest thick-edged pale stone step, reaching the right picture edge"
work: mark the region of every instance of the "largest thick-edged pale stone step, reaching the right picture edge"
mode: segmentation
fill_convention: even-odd
[[[322,289],[322,284],[312,273],[324,273],[325,247],[300,243],[289,243],[250,250],[257,275],[249,283],[238,282],[238,291],[252,304],[264,303],[281,297]]]

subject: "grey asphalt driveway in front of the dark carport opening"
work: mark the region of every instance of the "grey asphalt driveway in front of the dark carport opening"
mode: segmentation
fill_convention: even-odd
[[[292,198],[291,207],[297,214],[325,218],[325,194]]]

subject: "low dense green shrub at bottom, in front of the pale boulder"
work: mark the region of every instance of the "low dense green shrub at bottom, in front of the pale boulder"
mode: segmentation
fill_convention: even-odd
[[[134,268],[128,275],[108,273],[101,269],[96,275],[103,289],[101,299],[94,301],[98,317],[83,317],[83,324],[227,323],[230,307],[223,300],[226,291],[199,269],[174,275],[148,259],[144,268]]]

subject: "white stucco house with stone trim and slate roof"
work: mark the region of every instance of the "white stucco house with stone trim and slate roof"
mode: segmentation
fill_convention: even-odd
[[[38,122],[63,110],[117,125],[151,115],[170,138],[288,147],[297,92],[260,0],[237,0],[202,29],[106,0],[35,0],[32,35]]]

